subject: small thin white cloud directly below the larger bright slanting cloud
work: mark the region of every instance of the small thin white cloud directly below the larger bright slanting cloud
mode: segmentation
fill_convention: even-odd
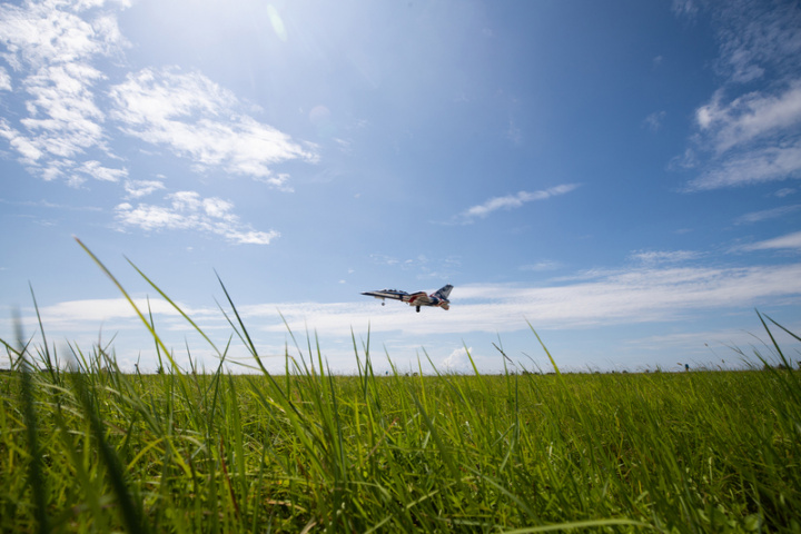
[[[236,244],[268,245],[280,234],[275,230],[257,231],[243,224],[233,214],[234,204],[221,198],[201,198],[195,191],[178,191],[165,197],[170,204],[157,206],[129,202],[117,206],[120,228],[140,228],[146,231],[199,230],[226,238]]]

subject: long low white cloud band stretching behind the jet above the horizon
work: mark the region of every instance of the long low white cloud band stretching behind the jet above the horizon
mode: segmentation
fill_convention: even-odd
[[[406,336],[409,335],[453,336],[479,332],[496,335],[526,330],[526,320],[537,329],[573,330],[620,325],[629,328],[636,324],[686,319],[710,313],[751,313],[755,306],[765,304],[773,307],[798,306],[801,301],[801,264],[749,268],[655,266],[611,269],[596,273],[592,279],[578,277],[555,286],[457,286],[451,297],[453,305],[448,312],[424,309],[419,315],[399,303],[380,306],[374,299],[239,303],[237,308],[246,324],[259,325],[263,338],[285,336],[288,326],[293,332],[300,333],[313,328],[328,343],[349,342],[352,328],[356,333],[365,333],[369,328],[374,335],[400,334],[405,336],[405,345],[408,345]],[[144,298],[137,298],[137,303],[141,309],[148,306]],[[181,325],[187,328],[168,303],[151,298],[149,305],[156,324],[161,325],[162,330],[178,332]],[[180,306],[204,330],[228,332],[226,322],[214,306]],[[72,300],[42,307],[40,312],[51,334],[63,332],[75,336],[78,332],[97,333],[99,324],[103,325],[105,332],[141,329],[130,306],[119,298]],[[27,315],[26,320],[36,328],[33,310]],[[180,345],[180,338],[176,343]],[[449,362],[458,365],[464,363],[466,354],[454,350],[451,356]]]

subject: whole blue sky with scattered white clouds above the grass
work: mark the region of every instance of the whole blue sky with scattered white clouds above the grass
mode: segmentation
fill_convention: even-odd
[[[0,4],[0,338],[62,362],[158,365],[78,238],[184,368],[250,370],[226,290],[276,373],[738,367],[799,178],[798,2]]]

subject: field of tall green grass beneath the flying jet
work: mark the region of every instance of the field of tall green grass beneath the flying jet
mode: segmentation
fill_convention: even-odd
[[[375,376],[354,342],[357,376],[312,343],[281,376],[164,347],[131,375],[3,344],[2,532],[801,532],[798,372]]]

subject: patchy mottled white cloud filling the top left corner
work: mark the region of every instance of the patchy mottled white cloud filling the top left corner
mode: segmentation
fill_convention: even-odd
[[[76,157],[92,149],[108,152],[105,113],[95,96],[105,77],[91,63],[127,42],[113,17],[90,9],[101,3],[0,6],[1,56],[21,76],[19,86],[29,97],[28,116],[18,125],[3,119],[0,136],[44,179],[73,178]]]

